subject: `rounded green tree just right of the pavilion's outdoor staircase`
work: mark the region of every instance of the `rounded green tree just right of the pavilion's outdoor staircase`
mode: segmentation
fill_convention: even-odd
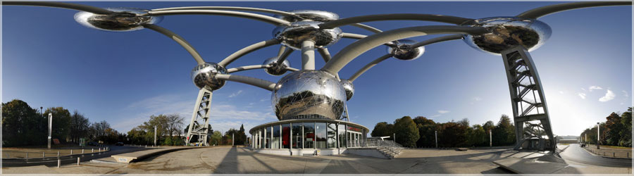
[[[416,141],[420,138],[416,123],[409,116],[394,120],[394,133],[396,142],[406,147],[416,147]]]

